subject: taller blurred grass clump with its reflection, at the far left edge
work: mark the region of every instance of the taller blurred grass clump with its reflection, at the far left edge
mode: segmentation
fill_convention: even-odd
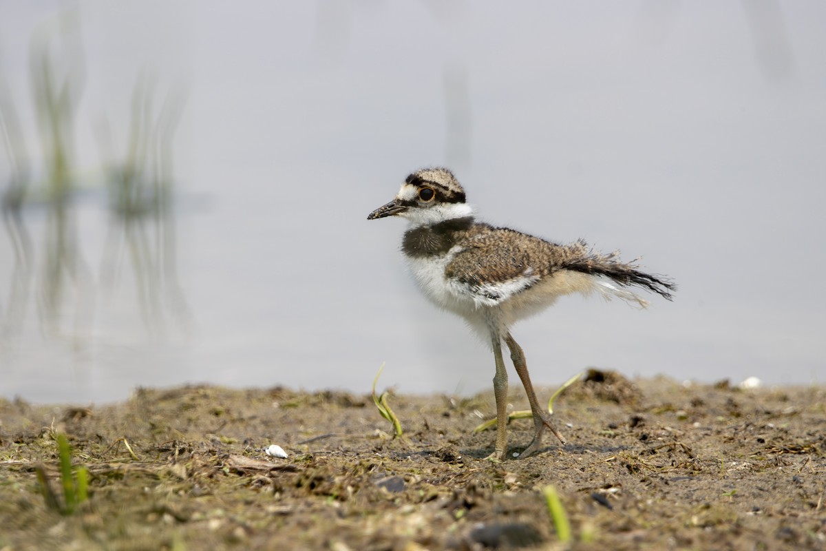
[[[41,329],[49,335],[61,332],[59,313],[67,302],[65,295],[70,284],[74,285],[76,298],[75,324],[88,321],[92,311],[88,301],[91,274],[78,249],[69,207],[74,192],[74,113],[84,80],[77,10],[61,12],[32,33],[29,60],[43,159],[40,171],[31,167],[26,136],[7,89],[3,90],[0,102],[3,138],[11,167],[7,188],[2,193],[2,213],[14,251],[9,306],[3,315],[4,344],[13,344],[21,333],[34,278],[33,248],[23,214],[27,204],[36,203],[47,214],[42,276],[36,290]],[[37,189],[33,185],[36,172],[42,178]],[[73,335],[81,335],[77,326],[74,329]]]

